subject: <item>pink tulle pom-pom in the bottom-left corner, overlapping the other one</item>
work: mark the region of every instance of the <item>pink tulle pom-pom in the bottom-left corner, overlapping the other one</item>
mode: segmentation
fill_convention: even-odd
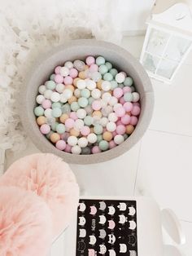
[[[47,256],[52,227],[46,202],[15,187],[1,187],[0,195],[0,255]]]

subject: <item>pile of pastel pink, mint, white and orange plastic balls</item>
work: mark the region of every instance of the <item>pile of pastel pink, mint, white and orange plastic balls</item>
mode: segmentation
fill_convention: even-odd
[[[55,67],[38,92],[37,125],[64,152],[107,151],[123,143],[137,125],[140,103],[133,79],[103,56]]]

